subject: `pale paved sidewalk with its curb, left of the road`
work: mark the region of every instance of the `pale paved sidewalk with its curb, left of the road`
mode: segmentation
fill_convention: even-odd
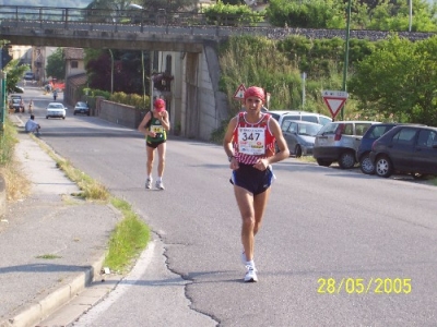
[[[8,203],[0,222],[0,327],[27,327],[102,278],[108,238],[121,215],[110,205],[71,196],[78,186],[24,133],[20,117],[10,118],[19,126],[15,155],[32,191]],[[105,284],[101,293],[113,288]],[[82,313],[87,308],[82,304]]]

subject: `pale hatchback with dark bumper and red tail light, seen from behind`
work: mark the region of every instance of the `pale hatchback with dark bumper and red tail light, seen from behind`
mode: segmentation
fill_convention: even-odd
[[[339,162],[340,168],[355,166],[356,152],[363,135],[376,121],[335,121],[326,124],[316,135],[312,156],[320,166]]]

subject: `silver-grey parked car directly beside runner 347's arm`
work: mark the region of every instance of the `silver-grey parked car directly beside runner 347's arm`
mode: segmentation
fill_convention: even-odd
[[[316,134],[323,125],[302,120],[287,120],[282,126],[291,155],[296,158],[312,155]]]

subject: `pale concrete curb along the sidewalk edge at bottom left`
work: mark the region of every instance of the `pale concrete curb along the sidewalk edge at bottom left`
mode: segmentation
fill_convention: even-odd
[[[51,292],[40,301],[29,304],[14,317],[0,322],[0,327],[31,327],[54,314],[92,283],[102,270],[106,254],[102,255],[88,269],[80,272],[71,282]]]

